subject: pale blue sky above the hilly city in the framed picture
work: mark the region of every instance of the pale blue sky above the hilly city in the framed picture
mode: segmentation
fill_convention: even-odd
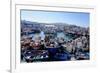
[[[43,23],[68,23],[89,26],[89,13],[21,10],[21,20]]]

